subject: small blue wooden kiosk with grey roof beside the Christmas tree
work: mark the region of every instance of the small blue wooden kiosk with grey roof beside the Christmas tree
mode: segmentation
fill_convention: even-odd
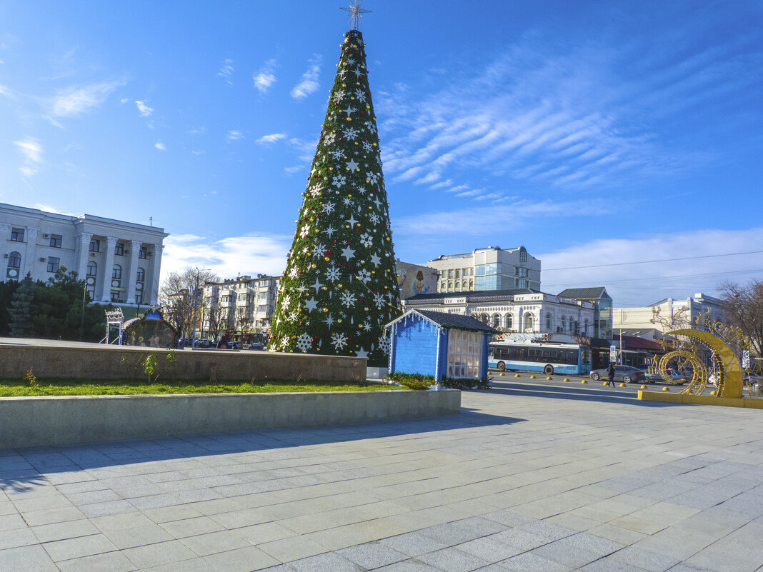
[[[497,331],[454,313],[408,310],[385,326],[390,339],[389,373],[487,380],[488,341]]]

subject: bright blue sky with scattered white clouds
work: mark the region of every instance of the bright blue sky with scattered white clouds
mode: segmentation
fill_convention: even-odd
[[[0,2],[0,201],[153,217],[163,272],[282,272],[341,4]],[[400,259],[524,245],[617,306],[763,278],[763,4],[365,8]]]

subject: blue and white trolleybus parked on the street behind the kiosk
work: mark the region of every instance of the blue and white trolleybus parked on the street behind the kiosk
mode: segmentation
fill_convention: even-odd
[[[565,336],[569,343],[555,342],[556,336],[497,336],[489,345],[488,367],[500,371],[542,371],[547,375],[588,374],[591,347],[587,338]],[[545,341],[548,340],[548,341]]]

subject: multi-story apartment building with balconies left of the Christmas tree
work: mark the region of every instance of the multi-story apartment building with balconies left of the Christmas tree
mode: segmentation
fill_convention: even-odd
[[[221,329],[236,333],[262,334],[270,329],[275,309],[275,294],[280,276],[250,275],[204,284],[205,314],[201,320],[204,335],[214,329],[210,320],[220,320]]]

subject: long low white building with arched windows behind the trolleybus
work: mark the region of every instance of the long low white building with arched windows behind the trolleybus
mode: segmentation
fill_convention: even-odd
[[[419,294],[405,309],[436,310],[472,316],[503,332],[565,333],[593,337],[596,304],[545,294],[530,288],[460,294]]]

